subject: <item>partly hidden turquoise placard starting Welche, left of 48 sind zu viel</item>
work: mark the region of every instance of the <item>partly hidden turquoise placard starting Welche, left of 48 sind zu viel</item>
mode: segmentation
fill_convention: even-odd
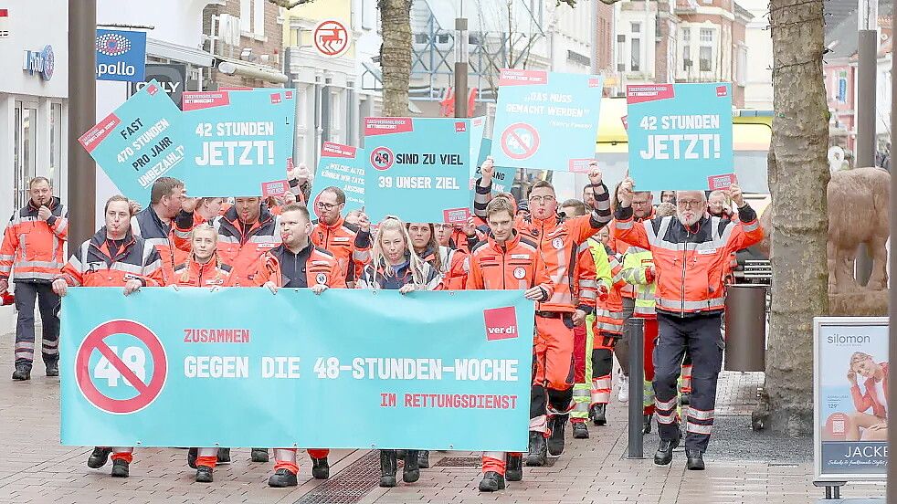
[[[314,172],[309,196],[309,210],[317,218],[314,202],[328,187],[339,187],[345,193],[343,215],[364,206],[364,171],[367,160],[364,149],[336,142],[324,142],[318,169]]]

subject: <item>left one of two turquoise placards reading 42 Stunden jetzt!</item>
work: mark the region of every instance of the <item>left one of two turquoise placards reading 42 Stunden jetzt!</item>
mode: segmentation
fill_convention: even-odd
[[[261,195],[286,178],[296,115],[291,89],[185,92],[183,100],[191,195]]]

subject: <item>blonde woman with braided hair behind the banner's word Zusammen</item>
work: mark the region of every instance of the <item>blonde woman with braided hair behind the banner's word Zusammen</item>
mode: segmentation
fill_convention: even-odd
[[[179,287],[222,287],[227,285],[230,267],[217,255],[218,233],[208,224],[190,232],[190,256],[174,267],[174,289]],[[187,465],[196,469],[196,482],[211,483],[217,461],[230,462],[230,448],[190,448]]]

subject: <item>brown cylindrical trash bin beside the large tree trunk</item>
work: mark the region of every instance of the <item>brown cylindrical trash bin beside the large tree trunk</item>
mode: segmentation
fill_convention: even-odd
[[[765,286],[728,286],[725,298],[725,369],[766,369]]]

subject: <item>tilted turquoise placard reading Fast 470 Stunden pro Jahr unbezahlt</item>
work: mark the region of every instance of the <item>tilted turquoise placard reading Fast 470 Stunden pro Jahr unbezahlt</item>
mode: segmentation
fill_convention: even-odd
[[[181,110],[153,79],[78,142],[121,194],[146,206],[156,179],[183,179],[187,140]]]

